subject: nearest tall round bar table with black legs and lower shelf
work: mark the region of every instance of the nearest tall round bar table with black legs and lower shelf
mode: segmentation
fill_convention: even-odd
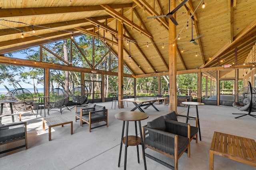
[[[140,121],[144,120],[144,119],[147,119],[148,114],[146,114],[144,112],[140,112],[140,111],[124,111],[124,112],[117,113],[115,115],[115,117],[116,117],[116,119],[123,121],[122,138],[121,138],[121,144],[120,144],[118,167],[120,167],[120,160],[121,160],[121,153],[122,153],[123,144],[125,145],[124,170],[126,170],[127,147],[128,146],[136,146],[137,147],[138,163],[140,163],[138,145],[141,145],[142,146],[142,153],[143,153],[143,160],[144,160],[144,167],[145,167],[145,170],[146,170],[147,166],[146,166],[145,150],[144,150],[144,143],[143,143]],[[128,136],[129,121],[134,121],[134,123],[135,123],[135,136],[134,135],[129,135]],[[140,137],[138,137],[138,132],[137,132],[137,121],[139,123]],[[125,122],[126,122],[126,137],[124,137]]]

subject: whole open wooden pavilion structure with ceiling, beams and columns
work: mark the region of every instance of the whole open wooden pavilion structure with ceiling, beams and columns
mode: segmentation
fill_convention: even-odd
[[[43,68],[46,96],[51,69],[80,72],[82,84],[84,73],[100,74],[102,80],[105,75],[118,76],[118,99],[123,98],[124,77],[134,78],[136,84],[136,78],[158,76],[160,84],[160,76],[169,76],[170,110],[175,111],[177,74],[198,74],[197,97],[209,104],[227,103],[220,97],[221,81],[234,81],[234,94],[239,80],[244,86],[248,80],[256,86],[255,0],[8,0],[0,7],[0,63]],[[84,34],[93,37],[92,61],[74,39]],[[65,39],[88,67],[74,65],[72,50],[62,58],[46,47]],[[36,59],[8,55],[32,47],[39,49]],[[102,48],[116,55],[118,72],[97,67],[105,62],[106,55],[94,60],[95,51]],[[47,61],[45,51],[60,62]],[[124,66],[132,74],[125,73]],[[208,100],[208,93],[202,98],[202,78],[211,84],[214,102]],[[100,96],[104,102],[104,95]],[[119,105],[123,107],[122,102]]]

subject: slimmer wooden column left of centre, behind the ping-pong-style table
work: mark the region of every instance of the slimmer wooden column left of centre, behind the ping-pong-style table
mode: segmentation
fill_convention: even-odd
[[[124,84],[124,27],[121,21],[118,21],[118,106],[124,108],[123,102],[123,84]]]

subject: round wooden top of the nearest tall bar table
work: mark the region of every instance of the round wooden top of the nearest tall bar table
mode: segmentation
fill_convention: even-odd
[[[122,121],[140,121],[148,118],[148,114],[140,111],[123,111],[115,114],[116,119]]]

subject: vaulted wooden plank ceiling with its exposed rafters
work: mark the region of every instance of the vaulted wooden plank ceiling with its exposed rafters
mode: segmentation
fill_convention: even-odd
[[[176,6],[180,2],[176,0]],[[204,0],[204,9],[202,2],[189,0],[176,12],[177,70],[243,64],[256,41],[256,1]],[[119,20],[124,23],[124,62],[130,70],[135,75],[168,72],[170,20],[147,19],[168,12],[168,0],[0,0],[0,54],[72,34],[97,37],[97,25],[100,39],[117,54]],[[198,36],[198,45],[190,42]],[[128,57],[129,51],[135,57]]]

